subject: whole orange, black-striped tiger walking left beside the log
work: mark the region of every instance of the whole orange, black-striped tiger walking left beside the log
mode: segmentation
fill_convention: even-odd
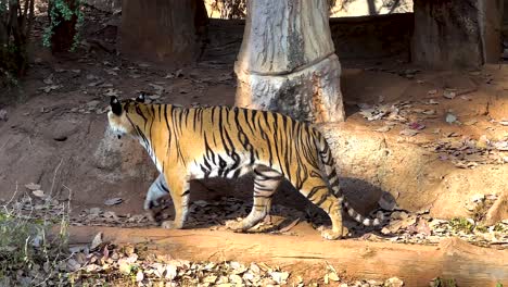
[[[187,109],[145,103],[143,93],[122,101],[111,97],[107,118],[113,135],[138,139],[160,172],[143,208],[151,210],[158,199],[170,196],[175,217],[163,221],[163,228],[183,227],[189,214],[189,180],[234,179],[249,173],[254,174],[253,207],[245,217],[226,222],[234,232],[247,232],[267,216],[274,192],[284,178],[330,217],[332,227],[321,232],[325,239],[346,235],[343,208],[366,226],[382,221],[359,214],[345,200],[327,140],[305,122],[238,107]]]

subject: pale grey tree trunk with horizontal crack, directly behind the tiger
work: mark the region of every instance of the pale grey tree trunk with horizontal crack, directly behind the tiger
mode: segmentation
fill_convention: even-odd
[[[327,0],[251,0],[234,64],[237,105],[321,123],[344,120]]]

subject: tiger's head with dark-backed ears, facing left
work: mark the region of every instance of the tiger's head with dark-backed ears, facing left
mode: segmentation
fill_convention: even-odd
[[[120,138],[124,135],[137,135],[137,127],[143,127],[148,112],[144,105],[144,93],[140,93],[136,101],[124,100],[120,101],[116,97],[111,97],[110,101],[111,111],[107,112],[107,120],[110,122],[110,129]]]

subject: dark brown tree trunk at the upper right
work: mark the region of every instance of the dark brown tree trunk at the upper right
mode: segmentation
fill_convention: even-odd
[[[432,68],[497,62],[503,9],[496,2],[415,0],[412,60]]]

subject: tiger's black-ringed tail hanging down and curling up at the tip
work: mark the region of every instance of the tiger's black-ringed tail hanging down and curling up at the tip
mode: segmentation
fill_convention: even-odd
[[[341,191],[341,187],[339,183],[339,175],[335,169],[335,160],[333,159],[333,155],[331,153],[330,146],[328,145],[327,140],[325,139],[321,133],[317,132],[316,136],[317,136],[316,144],[318,145],[319,158],[325,167],[325,173],[328,177],[328,182],[330,183],[330,188],[333,195],[339,199],[339,201],[346,209],[347,214],[351,217],[353,217],[356,222],[361,223],[366,226],[381,225],[381,223],[384,221],[382,213],[380,213],[378,217],[376,219],[369,219],[358,213],[356,210],[353,209],[353,207],[351,207],[350,202],[347,202],[347,200],[345,199],[344,195]]]

